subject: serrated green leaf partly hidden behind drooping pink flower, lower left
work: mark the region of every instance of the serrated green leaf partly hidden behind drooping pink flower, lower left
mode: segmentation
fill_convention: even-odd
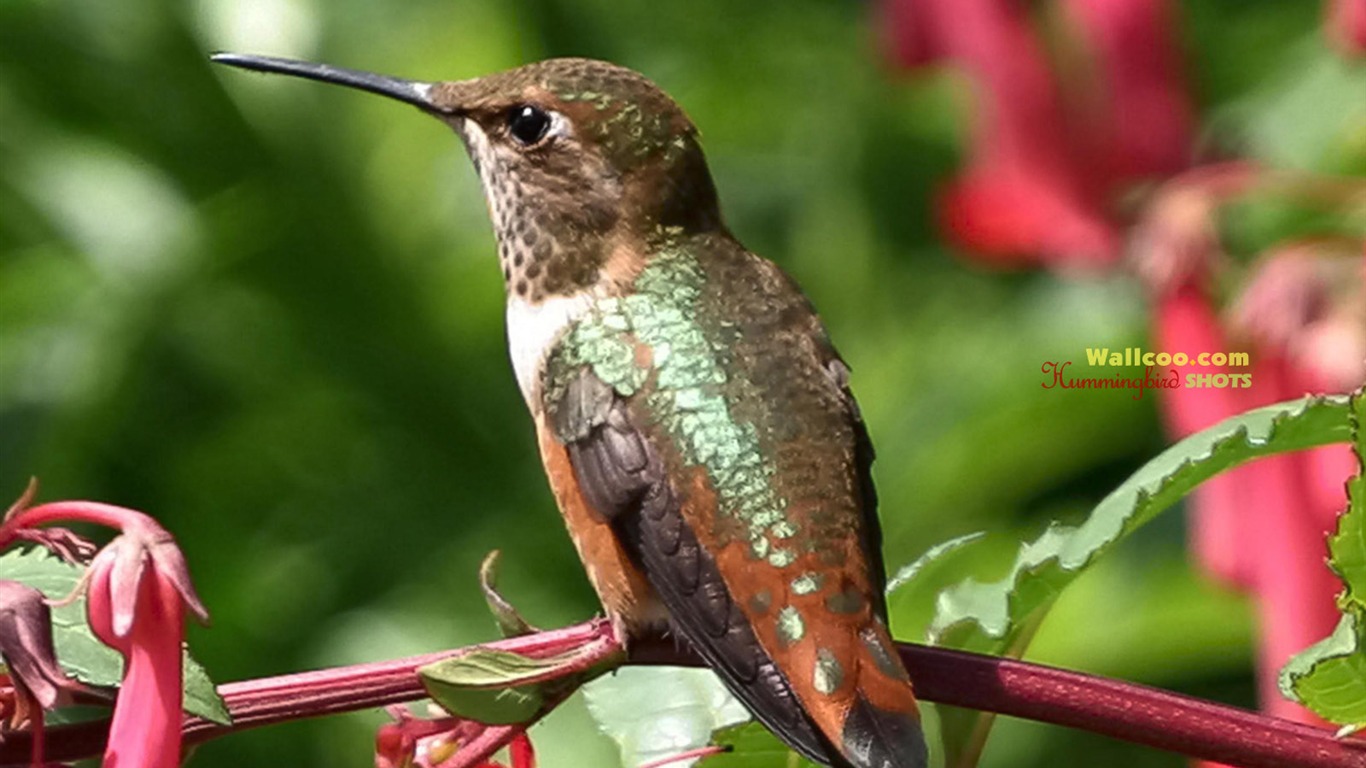
[[[0,555],[0,578],[14,579],[60,600],[76,588],[85,570],[40,547],[10,549]],[[123,656],[100,642],[86,623],[85,597],[52,608],[52,642],[57,661],[68,675],[102,687],[123,679]],[[198,661],[184,655],[184,711],[205,720],[229,724],[227,705]]]

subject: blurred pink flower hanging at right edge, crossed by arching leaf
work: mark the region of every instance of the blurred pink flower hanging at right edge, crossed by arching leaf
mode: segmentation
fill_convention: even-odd
[[[1303,396],[1348,392],[1366,383],[1366,290],[1356,246],[1337,241],[1284,245],[1255,265],[1231,307],[1233,333],[1250,339],[1258,354],[1250,391],[1253,406]],[[1355,329],[1324,350],[1309,343],[1324,328]],[[1328,357],[1321,357],[1324,354]],[[1337,578],[1324,566],[1324,537],[1347,506],[1343,478],[1355,473],[1347,445],[1276,456],[1262,470],[1270,508],[1259,518],[1265,548],[1258,562],[1257,596],[1264,615],[1262,668],[1276,670],[1300,649],[1326,637],[1337,623]],[[1280,495],[1279,499],[1274,495]],[[1264,681],[1268,711],[1305,719],[1303,711],[1276,696]]]

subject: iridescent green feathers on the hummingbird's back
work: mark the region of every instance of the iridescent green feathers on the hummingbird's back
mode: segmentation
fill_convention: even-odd
[[[743,537],[755,560],[775,567],[791,564],[799,551],[841,558],[843,547],[826,545],[852,533],[848,512],[856,517],[856,510],[848,507],[859,503],[848,484],[852,461],[832,466],[841,462],[809,444],[822,441],[837,451],[854,444],[847,420],[837,415],[844,407],[835,402],[839,389],[818,369],[833,350],[785,276],[758,257],[728,250],[657,254],[632,292],[597,301],[546,361],[550,421],[560,394],[589,366],[623,398],[639,399],[643,407],[632,410],[646,420],[656,444],[663,439],[676,461],[705,467],[719,500],[710,532],[717,544]],[[725,279],[725,265],[717,264],[723,260],[734,262],[731,271],[751,273],[740,283],[750,294],[740,312],[736,283],[727,284],[727,307],[714,295],[712,282]],[[747,332],[742,323],[750,325]],[[759,342],[762,351],[743,348]],[[647,359],[638,344],[649,348]],[[792,450],[798,443],[809,450]],[[796,521],[787,514],[792,500],[806,500],[803,507],[822,503]],[[832,502],[843,502],[846,514],[832,514]]]

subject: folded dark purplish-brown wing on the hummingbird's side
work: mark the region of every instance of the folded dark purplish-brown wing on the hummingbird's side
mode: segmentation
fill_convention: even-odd
[[[585,369],[556,409],[585,499],[669,607],[676,630],[765,726],[806,757],[844,764],[806,716],[787,678],[759,646],[716,562],[686,525],[664,463],[631,424],[626,403]]]

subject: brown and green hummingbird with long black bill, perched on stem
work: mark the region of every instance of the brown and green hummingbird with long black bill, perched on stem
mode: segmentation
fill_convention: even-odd
[[[682,637],[816,763],[926,765],[850,368],[796,283],[727,228],[663,89],[587,59],[449,82],[213,60],[387,96],[463,139],[550,489],[624,642]]]

